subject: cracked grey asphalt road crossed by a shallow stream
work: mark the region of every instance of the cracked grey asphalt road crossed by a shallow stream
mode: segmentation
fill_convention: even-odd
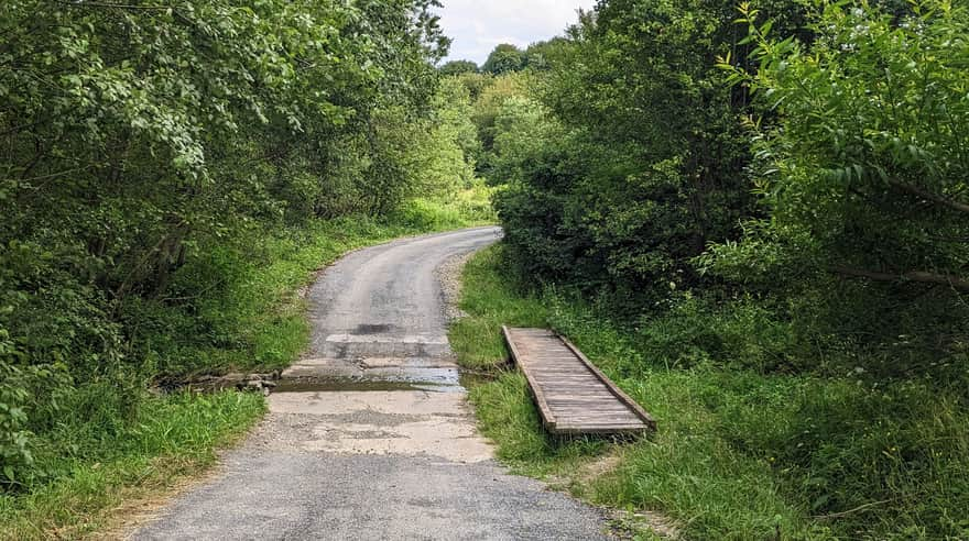
[[[594,508],[509,475],[475,428],[436,269],[497,228],[353,252],[311,289],[313,345],[270,413],[134,539],[607,539]]]

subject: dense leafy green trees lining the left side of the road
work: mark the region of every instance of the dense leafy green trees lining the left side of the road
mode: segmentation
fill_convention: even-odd
[[[134,408],[160,372],[199,368],[145,329],[237,340],[193,305],[224,277],[173,295],[183,269],[413,194],[411,135],[447,46],[436,3],[4,3],[0,485],[24,486],[24,438],[61,422],[70,391]]]

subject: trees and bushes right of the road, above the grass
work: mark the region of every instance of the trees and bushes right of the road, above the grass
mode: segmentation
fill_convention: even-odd
[[[967,10],[742,10],[750,36],[725,4],[602,2],[554,69],[481,93],[513,258],[630,323],[722,311],[665,330],[720,342],[705,350],[732,347],[744,313],[771,321],[747,366],[840,373],[856,352],[945,380],[933,367],[965,364],[969,333]]]

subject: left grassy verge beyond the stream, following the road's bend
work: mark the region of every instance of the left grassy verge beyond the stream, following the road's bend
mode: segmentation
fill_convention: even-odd
[[[488,197],[462,190],[448,203],[409,201],[383,219],[341,217],[222,243],[176,272],[170,297],[129,307],[132,347],[165,377],[285,367],[306,345],[295,291],[316,269],[395,236],[487,223]]]

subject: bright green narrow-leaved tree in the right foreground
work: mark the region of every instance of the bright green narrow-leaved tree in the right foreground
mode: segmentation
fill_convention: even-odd
[[[779,314],[823,367],[864,352],[856,364],[882,376],[946,382],[969,334],[969,13],[821,2],[808,18],[805,43],[743,8],[759,68],[723,67],[763,111],[752,169],[770,220],[697,262],[788,298]]]

